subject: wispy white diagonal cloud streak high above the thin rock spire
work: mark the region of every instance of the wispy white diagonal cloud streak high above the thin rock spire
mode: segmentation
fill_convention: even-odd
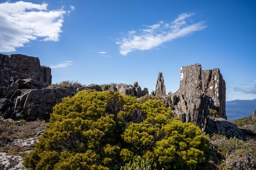
[[[187,19],[192,15],[193,13],[182,13],[170,24],[159,21],[157,24],[146,25],[146,29],[128,31],[128,34],[122,37],[121,41],[116,42],[119,45],[119,53],[127,55],[135,50],[152,49],[164,42],[184,37],[207,27],[204,22],[188,24]]]

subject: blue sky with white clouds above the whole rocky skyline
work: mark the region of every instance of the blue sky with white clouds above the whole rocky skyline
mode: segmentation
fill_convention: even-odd
[[[256,98],[255,0],[16,2],[0,1],[0,53],[39,57],[52,82],[139,82],[151,91],[162,71],[168,93],[181,66],[200,63],[220,68],[227,100]]]

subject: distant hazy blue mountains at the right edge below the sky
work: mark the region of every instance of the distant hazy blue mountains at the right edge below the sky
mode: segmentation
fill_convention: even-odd
[[[232,100],[226,102],[226,115],[228,121],[251,116],[253,110],[256,110],[256,99]]]

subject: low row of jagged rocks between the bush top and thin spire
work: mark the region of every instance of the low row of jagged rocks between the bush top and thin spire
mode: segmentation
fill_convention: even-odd
[[[133,85],[128,84],[106,84],[104,86],[104,91],[117,91],[122,95],[131,95],[136,97],[142,97],[148,95],[148,88],[144,88],[143,91],[138,85],[138,82],[135,82]]]

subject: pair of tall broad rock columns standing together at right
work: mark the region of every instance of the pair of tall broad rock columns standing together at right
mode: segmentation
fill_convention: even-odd
[[[174,113],[184,122],[193,122],[207,130],[210,108],[218,110],[220,117],[227,119],[225,90],[225,81],[218,68],[202,71],[200,64],[182,66],[180,88],[171,94]]]

